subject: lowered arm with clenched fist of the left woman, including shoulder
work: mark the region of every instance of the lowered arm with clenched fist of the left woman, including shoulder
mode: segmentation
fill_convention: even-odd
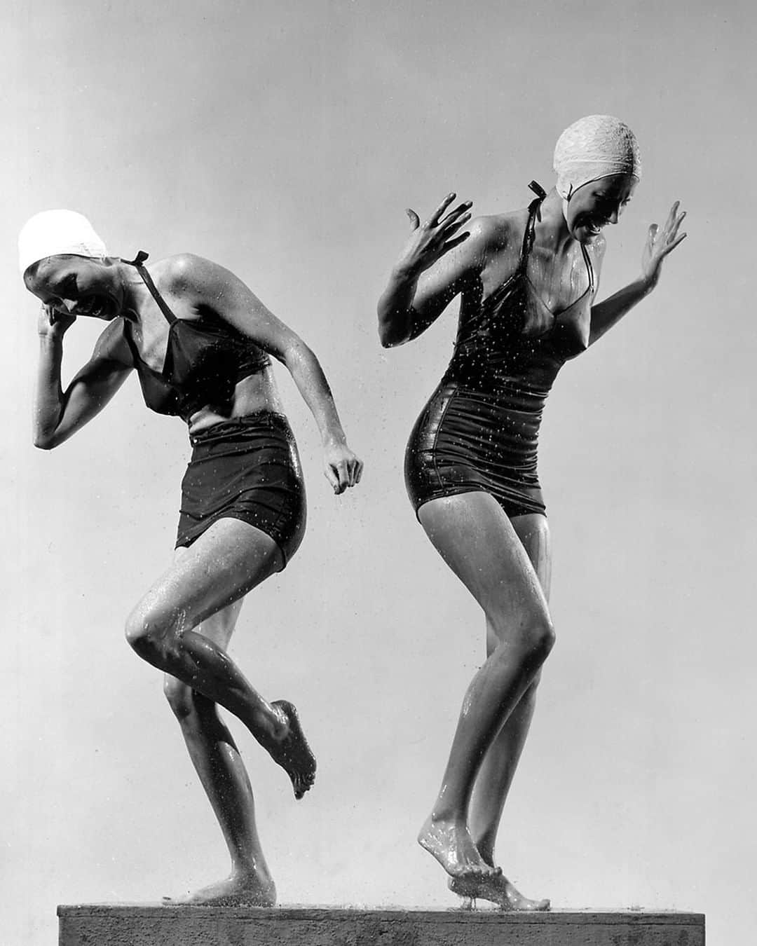
[[[324,445],[326,479],[343,493],[361,479],[362,462],[347,447],[326,375],[308,345],[277,319],[233,272],[202,256],[185,254],[173,261],[171,282],[177,293],[220,318],[286,365],[315,418]]]

